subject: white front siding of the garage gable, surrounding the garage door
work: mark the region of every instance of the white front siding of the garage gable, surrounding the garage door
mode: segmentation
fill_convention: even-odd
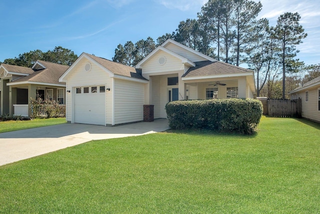
[[[91,70],[85,71],[84,66],[89,61],[85,58],[82,58],[70,71],[67,76],[67,87],[66,91],[70,90],[70,93],[66,93],[66,120],[69,122],[74,122],[74,94],[75,88],[80,86],[94,86],[94,85],[105,85],[105,88],[110,88],[112,90],[112,78],[109,77],[108,73],[106,73],[102,68],[91,63]],[[105,92],[105,103],[106,109],[110,109],[110,105],[112,105],[112,91]],[[72,97],[73,95],[73,97]],[[73,104],[72,104],[73,103]],[[112,121],[110,118],[112,112],[106,112],[106,121],[109,123]]]

